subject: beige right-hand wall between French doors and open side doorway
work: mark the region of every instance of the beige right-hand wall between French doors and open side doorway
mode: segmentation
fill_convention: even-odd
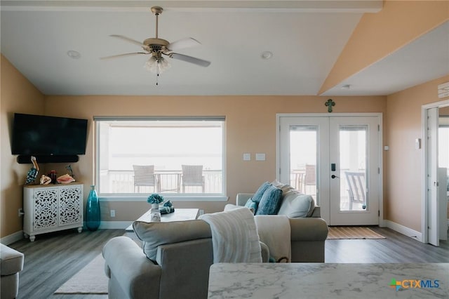
[[[422,138],[422,105],[440,101],[437,86],[447,81],[449,76],[387,96],[385,218],[417,232],[422,231],[423,155],[415,138]]]

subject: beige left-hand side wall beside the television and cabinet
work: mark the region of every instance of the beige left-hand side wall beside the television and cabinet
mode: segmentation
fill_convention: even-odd
[[[11,154],[11,123],[14,112],[43,114],[43,95],[0,55],[0,237],[22,230],[22,185],[31,164],[18,164]]]

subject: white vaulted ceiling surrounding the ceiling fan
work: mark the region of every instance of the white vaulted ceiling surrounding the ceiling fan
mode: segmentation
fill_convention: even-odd
[[[1,1],[1,53],[45,95],[317,95],[363,13],[382,1]],[[192,37],[159,76],[137,41]],[[449,25],[369,65],[323,95],[388,95],[449,73]],[[79,53],[71,58],[69,51]],[[272,57],[264,59],[264,52]],[[419,72],[417,71],[419,70]],[[342,89],[342,85],[356,88]]]

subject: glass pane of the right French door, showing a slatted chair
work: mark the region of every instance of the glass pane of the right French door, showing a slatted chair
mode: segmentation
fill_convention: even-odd
[[[366,211],[368,126],[340,126],[340,211]]]

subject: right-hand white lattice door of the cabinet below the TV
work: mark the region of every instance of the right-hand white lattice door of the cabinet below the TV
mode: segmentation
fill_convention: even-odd
[[[59,190],[59,226],[83,222],[81,185]]]

